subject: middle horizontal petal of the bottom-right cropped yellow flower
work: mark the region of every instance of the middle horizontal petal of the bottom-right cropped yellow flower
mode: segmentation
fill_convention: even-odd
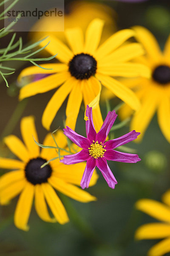
[[[136,230],[136,239],[161,239],[170,236],[170,224],[149,223]]]

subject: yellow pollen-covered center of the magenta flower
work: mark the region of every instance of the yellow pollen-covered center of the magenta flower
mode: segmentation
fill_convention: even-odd
[[[106,151],[105,146],[103,146],[102,143],[99,144],[98,141],[94,143],[94,140],[93,140],[93,143],[91,143],[91,147],[88,149],[89,149],[89,154],[93,158],[103,157]]]

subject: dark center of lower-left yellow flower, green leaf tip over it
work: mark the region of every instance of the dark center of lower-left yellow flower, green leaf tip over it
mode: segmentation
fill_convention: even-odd
[[[42,164],[46,162],[47,160],[37,157],[27,163],[25,175],[29,182],[34,185],[47,182],[47,179],[51,176],[52,169],[49,164],[41,168]]]

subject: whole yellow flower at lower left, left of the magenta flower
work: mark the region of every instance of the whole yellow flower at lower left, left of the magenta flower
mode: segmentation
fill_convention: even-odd
[[[4,139],[8,148],[20,160],[0,157],[0,168],[15,170],[0,177],[0,204],[8,204],[12,198],[20,194],[15,209],[14,224],[25,231],[29,229],[28,218],[33,199],[37,214],[43,221],[58,221],[60,224],[65,224],[69,218],[54,189],[80,202],[96,200],[94,196],[75,186],[80,185],[85,163],[66,166],[56,159],[41,169],[43,163],[56,157],[56,151],[54,148],[43,148],[40,152],[40,147],[33,139],[34,136],[38,141],[32,116],[24,117],[20,126],[25,145],[14,135]],[[64,148],[67,145],[62,131],[57,132],[55,139],[59,147]],[[45,137],[44,145],[54,145],[51,134]],[[95,172],[91,185],[96,183],[97,177]],[[49,215],[46,202],[54,218]]]

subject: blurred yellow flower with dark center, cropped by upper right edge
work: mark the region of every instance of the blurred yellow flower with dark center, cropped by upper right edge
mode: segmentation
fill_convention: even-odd
[[[159,127],[164,137],[170,142],[170,37],[167,39],[164,51],[161,52],[155,37],[144,27],[134,27],[136,39],[143,45],[147,54],[137,61],[150,68],[152,76],[122,81],[128,88],[135,88],[136,96],[142,103],[131,121],[130,130],[140,131],[136,141],[142,140],[145,130],[157,111]],[[122,119],[130,116],[133,110],[123,106],[120,115]]]

